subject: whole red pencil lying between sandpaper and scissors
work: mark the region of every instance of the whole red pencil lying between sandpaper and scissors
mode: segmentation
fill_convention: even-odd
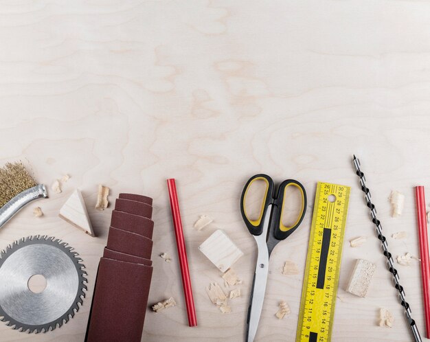
[[[181,212],[179,211],[178,196],[174,179],[168,179],[167,186],[169,190],[170,209],[172,209],[174,235],[176,236],[179,266],[181,268],[183,293],[185,295],[185,305],[187,307],[188,325],[190,327],[194,327],[197,326],[196,309],[194,308],[194,298],[192,297],[187,250],[185,249],[185,239],[183,238]]]

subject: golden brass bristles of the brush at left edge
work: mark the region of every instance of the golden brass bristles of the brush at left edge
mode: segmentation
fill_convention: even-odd
[[[21,161],[6,163],[0,168],[0,208],[20,192],[36,185]]]

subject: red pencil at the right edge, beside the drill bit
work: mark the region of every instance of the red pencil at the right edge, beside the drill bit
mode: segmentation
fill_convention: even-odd
[[[416,211],[418,218],[418,238],[420,241],[422,296],[425,310],[425,328],[427,339],[430,338],[430,260],[429,237],[427,236],[427,216],[424,187],[415,187]]]

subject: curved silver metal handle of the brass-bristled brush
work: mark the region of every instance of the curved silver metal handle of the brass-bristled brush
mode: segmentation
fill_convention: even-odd
[[[19,210],[34,201],[37,198],[47,198],[48,193],[46,187],[43,184],[30,187],[30,189],[20,192],[14,198],[12,198],[8,203],[0,208],[0,227],[2,227],[14,214],[19,212]]]

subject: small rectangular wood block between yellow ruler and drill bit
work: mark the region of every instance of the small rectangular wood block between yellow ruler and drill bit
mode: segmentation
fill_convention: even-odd
[[[346,286],[346,292],[359,297],[365,297],[370,287],[370,282],[375,274],[376,265],[370,261],[359,259],[355,263],[354,270]]]

